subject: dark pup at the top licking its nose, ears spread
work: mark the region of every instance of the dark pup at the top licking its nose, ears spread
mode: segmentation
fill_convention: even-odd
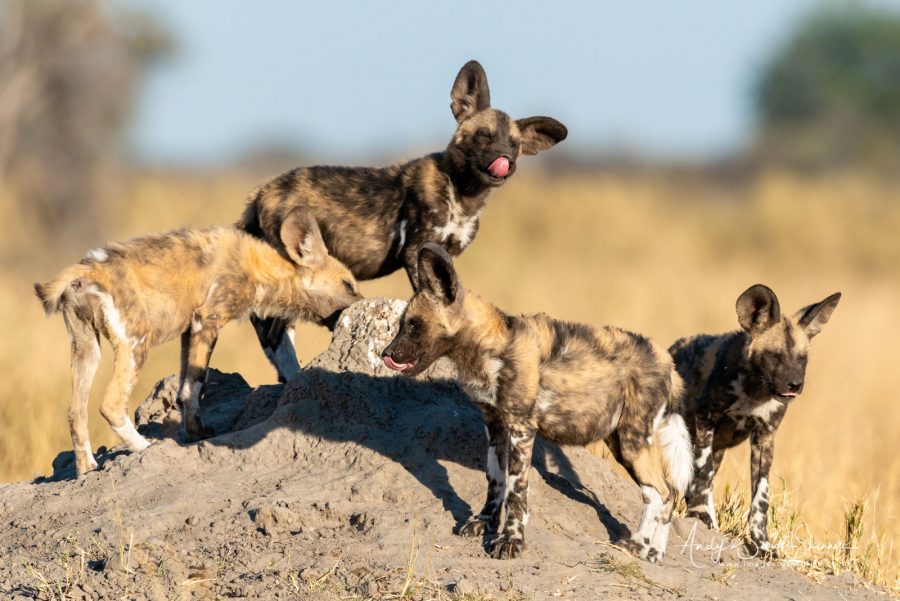
[[[426,242],[460,254],[478,232],[487,196],[516,171],[520,154],[537,154],[565,139],[549,117],[512,119],[491,108],[487,75],[477,61],[463,66],[450,91],[459,123],[443,152],[386,168],[301,167],[250,196],[238,227],[280,246],[284,216],[313,212],[332,256],[359,280],[406,269],[416,285],[416,260]],[[278,320],[251,318],[281,381],[299,373],[294,332]]]

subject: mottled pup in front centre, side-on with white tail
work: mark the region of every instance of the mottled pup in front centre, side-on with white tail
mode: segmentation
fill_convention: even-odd
[[[417,273],[417,291],[382,356],[409,376],[449,357],[484,414],[487,501],[460,534],[497,532],[505,506],[491,555],[516,557],[525,543],[535,435],[561,444],[604,440],[644,498],[640,525],[625,545],[649,561],[661,559],[674,492],[684,492],[693,465],[676,411],[681,379],[665,349],[618,328],[507,315],[465,291],[435,244],[422,247]],[[653,452],[657,437],[668,475]]]

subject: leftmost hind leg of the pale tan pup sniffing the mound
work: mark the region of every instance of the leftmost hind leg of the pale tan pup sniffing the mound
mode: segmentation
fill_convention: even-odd
[[[87,409],[91,383],[100,365],[100,340],[97,332],[74,311],[63,313],[72,342],[72,402],[69,405],[69,432],[75,449],[75,470],[79,476],[96,469],[97,461],[88,436]]]

